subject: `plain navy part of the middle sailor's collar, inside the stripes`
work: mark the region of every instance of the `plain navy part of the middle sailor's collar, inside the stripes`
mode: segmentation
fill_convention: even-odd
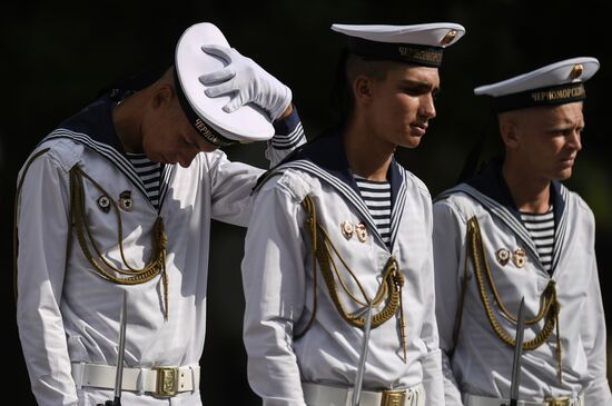
[[[351,186],[359,195],[357,182],[346,158],[343,137],[338,129],[324,131],[320,136],[306,142],[290,154],[280,166],[296,160],[307,160],[315,164],[320,169]],[[387,171],[387,179],[389,179],[392,190],[392,204],[395,202],[397,191],[402,186],[402,170],[399,164],[393,158]]]

